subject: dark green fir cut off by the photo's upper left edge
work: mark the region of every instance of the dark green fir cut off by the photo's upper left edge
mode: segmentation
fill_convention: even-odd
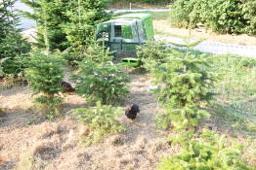
[[[0,1],[1,77],[20,75],[25,68],[23,59],[30,51],[30,44],[21,37],[21,29],[16,28],[19,17],[12,11],[14,3],[14,0]]]

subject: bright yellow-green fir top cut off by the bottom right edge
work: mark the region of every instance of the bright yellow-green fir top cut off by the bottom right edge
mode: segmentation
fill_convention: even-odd
[[[203,129],[196,138],[184,141],[181,152],[161,160],[159,170],[252,170],[242,158],[242,146],[228,145],[225,136]]]

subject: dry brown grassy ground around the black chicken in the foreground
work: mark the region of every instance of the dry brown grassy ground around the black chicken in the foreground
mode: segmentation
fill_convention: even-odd
[[[0,106],[7,116],[0,122],[0,169],[155,169],[160,157],[175,150],[155,126],[159,111],[148,92],[149,78],[141,75],[131,78],[131,93],[124,105],[139,104],[138,119],[131,122],[122,116],[124,132],[88,148],[80,143],[83,125],[68,112],[86,107],[84,99],[68,95],[64,102],[65,116],[50,121],[36,117],[31,91],[26,86],[1,89]]]

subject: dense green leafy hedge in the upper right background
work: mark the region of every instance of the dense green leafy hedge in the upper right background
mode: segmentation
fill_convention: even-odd
[[[253,0],[177,0],[171,7],[171,20],[182,27],[203,23],[220,33],[255,35],[255,7]]]

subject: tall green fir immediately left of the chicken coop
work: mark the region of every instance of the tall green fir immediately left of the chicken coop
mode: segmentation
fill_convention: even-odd
[[[71,58],[68,60],[79,61],[90,55],[88,52],[91,53],[91,51],[88,51],[88,48],[92,49],[92,46],[95,46],[95,25],[105,21],[109,15],[105,12],[107,1],[76,0],[72,3],[74,8],[65,13],[69,22],[62,26],[67,42],[70,44],[68,52]],[[97,49],[95,50],[96,53]]]

